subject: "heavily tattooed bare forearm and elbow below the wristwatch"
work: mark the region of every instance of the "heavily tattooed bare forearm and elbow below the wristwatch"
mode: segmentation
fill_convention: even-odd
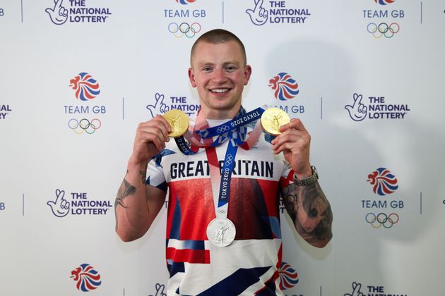
[[[285,187],[281,196],[295,229],[308,242],[332,238],[332,211],[318,182],[308,186],[295,183]]]

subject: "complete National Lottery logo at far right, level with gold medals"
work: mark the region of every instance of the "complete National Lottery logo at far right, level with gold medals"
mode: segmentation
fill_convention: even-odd
[[[410,112],[408,104],[389,104],[386,97],[367,97],[355,93],[352,103],[345,105],[353,121],[368,119],[404,119]]]

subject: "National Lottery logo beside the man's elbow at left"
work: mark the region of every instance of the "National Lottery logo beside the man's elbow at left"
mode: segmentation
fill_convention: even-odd
[[[59,218],[71,215],[106,215],[112,208],[109,200],[90,199],[87,192],[70,192],[57,189],[56,195],[47,202],[54,216]]]

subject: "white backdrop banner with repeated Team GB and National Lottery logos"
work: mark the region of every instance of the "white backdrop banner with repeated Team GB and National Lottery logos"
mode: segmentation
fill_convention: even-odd
[[[316,249],[280,206],[285,295],[444,295],[445,0],[0,0],[0,295],[165,295],[168,201],[121,242],[114,198],[138,123],[199,108],[189,51],[217,27],[333,208]]]

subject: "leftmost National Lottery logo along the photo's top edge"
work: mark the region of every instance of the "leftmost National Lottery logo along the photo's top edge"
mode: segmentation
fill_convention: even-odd
[[[50,0],[47,0],[49,3]],[[88,6],[90,0],[53,0],[45,12],[54,25],[64,23],[105,23],[112,13],[109,8]]]

